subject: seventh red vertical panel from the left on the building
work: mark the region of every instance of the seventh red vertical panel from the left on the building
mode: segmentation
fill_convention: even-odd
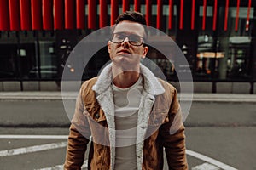
[[[65,0],[65,28],[74,29],[75,28],[75,1]]]

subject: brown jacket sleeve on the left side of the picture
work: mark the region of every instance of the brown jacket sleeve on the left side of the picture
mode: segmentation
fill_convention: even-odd
[[[81,169],[84,153],[90,141],[90,128],[87,116],[84,116],[84,105],[81,93],[77,98],[76,108],[69,128],[67,153],[64,169]]]

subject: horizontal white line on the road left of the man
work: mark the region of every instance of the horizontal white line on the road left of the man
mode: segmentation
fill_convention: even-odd
[[[0,139],[67,139],[67,135],[0,135]]]

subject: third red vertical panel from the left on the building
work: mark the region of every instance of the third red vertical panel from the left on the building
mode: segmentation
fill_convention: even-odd
[[[20,26],[21,30],[31,30],[30,0],[20,0]]]

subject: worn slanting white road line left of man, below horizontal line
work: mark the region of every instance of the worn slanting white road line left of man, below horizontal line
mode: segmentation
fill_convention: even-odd
[[[3,156],[17,156],[20,154],[27,154],[42,150],[52,150],[57,148],[63,148],[67,146],[67,142],[60,142],[60,143],[53,143],[53,144],[41,144],[41,145],[35,145],[30,146],[26,148],[17,148],[12,150],[2,150],[0,151],[0,157]]]

